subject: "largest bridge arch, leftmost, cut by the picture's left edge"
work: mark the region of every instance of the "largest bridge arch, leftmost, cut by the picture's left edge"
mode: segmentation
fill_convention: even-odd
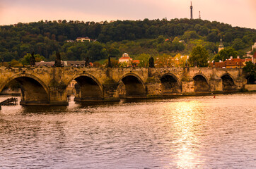
[[[7,84],[16,80],[21,84],[21,104],[47,104],[50,101],[49,89],[42,80],[27,73],[13,75],[1,85],[0,91]]]

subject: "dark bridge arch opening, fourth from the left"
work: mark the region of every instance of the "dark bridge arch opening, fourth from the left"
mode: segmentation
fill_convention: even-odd
[[[160,77],[162,94],[172,94],[181,92],[181,84],[173,73],[167,73]]]

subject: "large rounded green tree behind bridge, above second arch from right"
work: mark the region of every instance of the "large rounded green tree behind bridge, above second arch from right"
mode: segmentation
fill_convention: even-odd
[[[206,67],[208,65],[207,60],[209,57],[208,51],[201,45],[195,46],[190,54],[190,65]]]

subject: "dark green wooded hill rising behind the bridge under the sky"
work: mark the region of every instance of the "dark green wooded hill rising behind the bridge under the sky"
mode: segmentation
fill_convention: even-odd
[[[58,20],[37,23],[18,23],[0,26],[1,61],[21,61],[27,53],[55,60],[60,51],[62,60],[90,61],[120,57],[127,52],[137,58],[141,54],[189,55],[192,47],[201,44],[212,58],[223,37],[225,47],[233,47],[238,55],[256,42],[256,30],[210,22],[208,20],[117,20],[112,23],[94,23]],[[90,37],[95,42],[66,42],[77,37]],[[214,53],[215,52],[215,53]]]

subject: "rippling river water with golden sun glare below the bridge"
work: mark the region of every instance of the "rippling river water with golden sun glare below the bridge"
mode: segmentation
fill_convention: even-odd
[[[256,94],[2,106],[0,168],[256,168]]]

